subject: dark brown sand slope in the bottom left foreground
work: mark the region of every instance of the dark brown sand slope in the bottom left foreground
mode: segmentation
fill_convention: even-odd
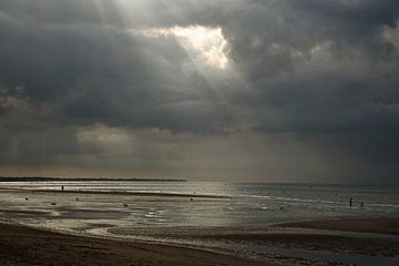
[[[258,266],[265,264],[191,248],[80,237],[0,224],[0,265]]]

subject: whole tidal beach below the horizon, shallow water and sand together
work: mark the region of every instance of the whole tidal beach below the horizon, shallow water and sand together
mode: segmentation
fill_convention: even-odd
[[[398,211],[396,187],[4,182],[0,265],[397,266]]]

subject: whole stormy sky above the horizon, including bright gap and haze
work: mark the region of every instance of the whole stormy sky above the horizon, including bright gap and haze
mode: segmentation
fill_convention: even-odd
[[[1,0],[0,175],[399,184],[398,0]]]

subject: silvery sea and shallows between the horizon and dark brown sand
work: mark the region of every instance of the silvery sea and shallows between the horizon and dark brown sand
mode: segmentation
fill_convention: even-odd
[[[264,250],[258,246],[226,243],[205,245],[160,237],[162,234],[155,233],[175,228],[187,232],[259,228],[284,222],[398,217],[398,186],[180,181],[0,182],[2,222],[76,235],[166,242],[204,249],[217,246],[225,252],[234,249],[234,253],[252,255],[269,254],[270,247]],[[272,252],[284,255],[287,250]],[[307,252],[300,254],[313,256]],[[320,257],[320,253],[314,255]],[[326,256],[327,260],[331,260],[331,256],[336,259],[334,254]],[[361,256],[345,259],[371,262]],[[399,265],[398,257],[383,258],[380,263]]]

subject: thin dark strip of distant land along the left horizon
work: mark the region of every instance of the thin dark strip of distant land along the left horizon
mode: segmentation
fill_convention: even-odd
[[[117,181],[117,182],[186,182],[186,180],[175,180],[175,178],[142,178],[142,177],[0,177],[0,182],[95,182],[95,181]]]

